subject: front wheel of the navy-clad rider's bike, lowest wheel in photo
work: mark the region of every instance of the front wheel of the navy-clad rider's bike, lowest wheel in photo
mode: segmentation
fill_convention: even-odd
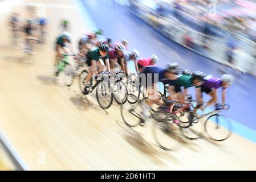
[[[177,150],[180,147],[180,130],[172,119],[155,121],[152,126],[153,137],[163,150]]]

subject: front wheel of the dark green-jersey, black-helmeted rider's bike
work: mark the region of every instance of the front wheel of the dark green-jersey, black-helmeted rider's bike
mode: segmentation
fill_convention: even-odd
[[[113,102],[113,93],[108,81],[101,81],[96,88],[96,98],[100,107],[108,109]]]

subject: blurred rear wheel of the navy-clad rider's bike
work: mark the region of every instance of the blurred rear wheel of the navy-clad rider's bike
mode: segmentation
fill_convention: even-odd
[[[127,101],[135,101],[137,97],[133,94],[128,94],[124,100]],[[141,101],[138,100],[135,104],[131,104],[130,102],[125,102],[121,104],[121,117],[123,118],[124,123],[129,127],[138,126],[139,123],[143,122],[142,112],[143,108],[141,107]]]

